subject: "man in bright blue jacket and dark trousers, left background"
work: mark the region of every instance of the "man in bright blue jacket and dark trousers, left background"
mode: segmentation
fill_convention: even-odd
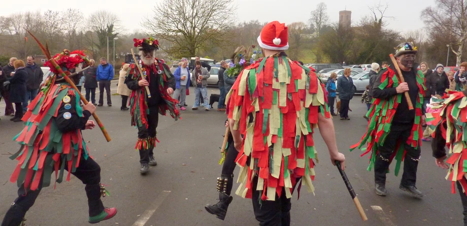
[[[96,78],[99,82],[99,104],[97,106],[104,105],[104,88],[107,92],[107,105],[112,106],[112,100],[110,99],[110,82],[114,78],[114,67],[112,64],[107,62],[105,57],[102,57],[101,64],[97,67]]]

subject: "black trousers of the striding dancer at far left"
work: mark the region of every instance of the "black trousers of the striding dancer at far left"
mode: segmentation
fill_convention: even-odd
[[[68,169],[68,166],[65,166],[65,169]],[[89,216],[102,213],[104,205],[101,201],[101,167],[92,158],[84,159],[84,156],[81,156],[79,167],[72,174],[86,185],[84,190],[88,198]],[[50,175],[43,175],[37,190],[25,190],[24,184],[21,185],[18,189],[18,198],[12,203],[5,215],[2,226],[18,226],[21,223],[24,215],[34,205],[41,192],[44,176]]]

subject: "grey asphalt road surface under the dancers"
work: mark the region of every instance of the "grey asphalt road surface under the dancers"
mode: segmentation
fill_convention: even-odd
[[[113,92],[116,81],[112,82]],[[193,90],[191,90],[194,93]],[[208,88],[208,93],[218,93]],[[120,111],[120,96],[112,95],[113,107],[98,107],[97,114],[105,124],[112,141],[107,143],[96,128],[84,131],[91,155],[102,168],[102,183],[110,197],[103,199],[107,207],[116,207],[117,215],[99,225],[257,225],[251,200],[233,195],[225,221],[207,213],[204,205],[216,203],[216,178],[219,147],[222,143],[226,116],[215,109],[209,112],[183,112],[182,120],[160,116],[157,128],[160,143],[155,148],[158,165],[146,176],[139,173],[139,155],[135,151],[137,129],[130,126],[128,111]],[[194,95],[187,97],[192,104]],[[414,199],[399,190],[401,176],[388,174],[387,197],[374,192],[373,171],[366,171],[368,156],[349,152],[366,131],[362,118],[366,110],[356,95],[350,103],[351,120],[333,119],[339,149],[346,155],[346,172],[369,220],[362,222],[338,170],[329,161],[327,149],[319,133],[315,144],[320,162],[316,167],[315,196],[302,190],[297,201],[292,198],[292,225],[462,225],[459,194],[451,194],[446,172],[435,165],[429,143],[422,147],[417,187],[425,197]],[[2,102],[3,103],[3,102]],[[106,102],[104,102],[106,103]],[[214,105],[217,107],[217,103]],[[4,112],[4,104],[0,112]],[[22,125],[0,117],[0,217],[16,198],[16,184],[10,183],[16,161],[10,160],[19,145],[12,141]],[[391,171],[394,166],[391,166]],[[237,169],[238,171],[238,169]],[[238,184],[234,184],[234,191]],[[84,185],[72,176],[70,182],[44,188],[35,206],[26,214],[27,225],[88,225]]]

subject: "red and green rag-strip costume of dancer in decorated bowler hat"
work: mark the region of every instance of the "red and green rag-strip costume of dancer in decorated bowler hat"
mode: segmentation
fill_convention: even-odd
[[[397,87],[399,85],[399,78],[392,67],[387,67],[379,73],[382,74],[381,84],[379,86],[380,89]],[[420,139],[422,138],[420,120],[422,116],[421,107],[423,103],[423,95],[425,93],[425,78],[421,71],[418,71],[415,74],[419,92],[418,98],[416,98],[416,103],[414,103],[415,121],[412,126],[412,135],[407,140],[407,144],[417,149],[420,147]],[[389,99],[373,98],[373,104],[368,113],[366,113],[366,116],[370,118],[367,132],[363,135],[360,142],[350,147],[350,151],[355,148],[359,148],[364,151],[361,156],[371,152],[370,166],[368,167],[368,171],[370,171],[372,167],[375,166],[375,159],[378,154],[378,146],[382,146],[384,144],[386,136],[391,131],[392,119],[397,110],[397,106],[401,103],[402,98],[404,98],[404,93],[393,95]],[[368,145],[363,147],[367,142]],[[406,150],[404,150],[404,145],[401,144],[401,142],[397,143],[394,152],[390,156],[390,159],[388,159],[389,162],[392,162],[394,158],[396,160],[396,167],[394,170],[394,174],[396,176],[399,172],[401,162],[404,160],[405,155]]]

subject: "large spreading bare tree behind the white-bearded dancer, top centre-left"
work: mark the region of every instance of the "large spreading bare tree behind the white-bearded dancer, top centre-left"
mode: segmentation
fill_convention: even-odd
[[[229,0],[166,0],[141,23],[150,34],[172,43],[173,56],[194,56],[209,43],[221,45],[234,26],[236,6]]]

